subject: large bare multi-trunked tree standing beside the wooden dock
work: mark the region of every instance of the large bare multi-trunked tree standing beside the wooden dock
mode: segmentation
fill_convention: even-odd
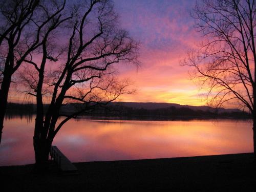
[[[39,168],[48,161],[53,139],[69,119],[132,93],[128,81],[117,81],[114,66],[120,61],[137,63],[138,43],[119,29],[112,2],[84,1],[68,9],[72,18],[45,36],[41,52],[35,54],[40,63],[31,55],[26,62],[34,68],[21,73],[28,94],[36,97],[34,151]],[[50,103],[46,111],[44,99]],[[74,102],[80,103],[77,111],[61,114],[63,105]]]

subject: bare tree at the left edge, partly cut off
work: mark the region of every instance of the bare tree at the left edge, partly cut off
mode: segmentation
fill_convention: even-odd
[[[8,0],[0,3],[0,142],[13,75],[59,19],[65,2],[55,0]],[[47,9],[51,7],[51,9]]]

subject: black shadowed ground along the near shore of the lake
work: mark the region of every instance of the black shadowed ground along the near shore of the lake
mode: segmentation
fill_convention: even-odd
[[[253,154],[74,163],[78,175],[55,165],[0,167],[0,191],[256,191]]]

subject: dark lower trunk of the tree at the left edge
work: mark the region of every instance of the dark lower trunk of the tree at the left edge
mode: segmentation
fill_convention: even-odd
[[[10,89],[11,84],[11,72],[8,70],[5,71],[3,82],[1,84],[1,90],[0,90],[0,144],[2,141],[2,133],[4,128],[4,119],[5,119],[5,113],[7,108],[7,99],[8,99],[8,93]]]

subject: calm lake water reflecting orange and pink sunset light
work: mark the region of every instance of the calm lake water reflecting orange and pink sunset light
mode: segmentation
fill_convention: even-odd
[[[34,117],[6,119],[0,165],[34,163]],[[252,122],[70,120],[53,145],[72,161],[106,161],[252,152]]]

